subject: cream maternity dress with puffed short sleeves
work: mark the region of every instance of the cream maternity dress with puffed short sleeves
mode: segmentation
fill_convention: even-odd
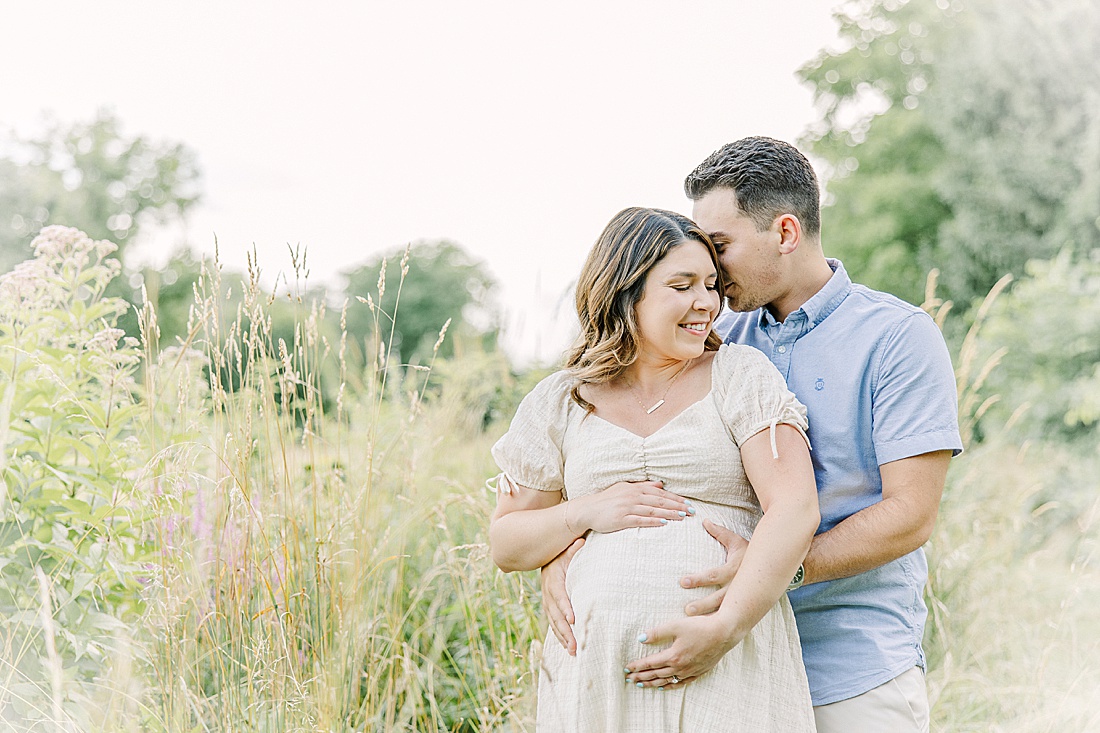
[[[540,733],[814,731],[785,597],[697,680],[658,690],[624,679],[626,663],[663,648],[638,643],[638,635],[682,617],[685,603],[713,590],[685,590],[679,583],[689,572],[725,561],[725,549],[703,528],[703,519],[749,537],[760,517],[738,445],[779,423],[806,427],[805,408],[756,349],[722,347],[711,380],[703,400],[641,438],[586,416],[570,398],[570,375],[558,372],[524,398],[508,433],[493,448],[504,472],[503,491],[514,482],[575,499],[617,481],[661,480],[697,510],[695,516],[661,527],[587,534],[566,576],[578,653],[569,656],[547,635],[539,677]]]

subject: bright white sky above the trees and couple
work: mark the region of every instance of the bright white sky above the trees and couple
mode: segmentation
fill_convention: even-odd
[[[205,199],[187,241],[311,282],[449,238],[501,284],[521,361],[568,344],[570,287],[626,206],[690,212],[723,143],[813,119],[794,72],[835,45],[825,0],[86,2],[0,9],[0,127],[113,108],[180,141]],[[141,252],[155,260],[182,234]]]

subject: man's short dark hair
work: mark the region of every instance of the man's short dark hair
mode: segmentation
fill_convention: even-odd
[[[715,188],[732,188],[737,206],[763,231],[784,214],[793,214],[802,230],[821,232],[821,193],[806,156],[790,143],[771,138],[745,138],[723,145],[684,179],[684,193],[696,201]]]

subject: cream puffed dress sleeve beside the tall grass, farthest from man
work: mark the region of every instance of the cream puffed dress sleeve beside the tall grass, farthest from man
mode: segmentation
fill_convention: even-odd
[[[498,491],[514,484],[538,491],[562,491],[565,466],[561,452],[569,419],[572,378],[556,372],[539,382],[519,403],[508,431],[493,446],[493,459],[501,468]]]

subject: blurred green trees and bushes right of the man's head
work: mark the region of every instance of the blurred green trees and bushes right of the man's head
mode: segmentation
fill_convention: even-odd
[[[983,324],[1003,358],[979,427],[1096,452],[1100,3],[857,0],[836,18],[840,48],[800,72],[827,253],[917,304],[938,269],[964,324],[1013,275]]]

